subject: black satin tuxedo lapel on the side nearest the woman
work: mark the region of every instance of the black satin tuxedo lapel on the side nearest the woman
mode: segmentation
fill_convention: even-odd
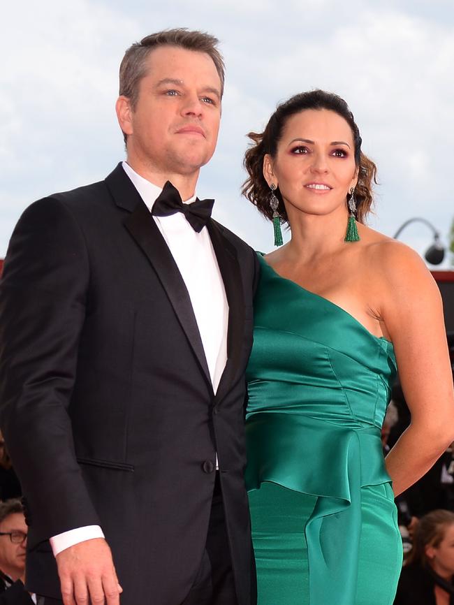
[[[240,365],[244,333],[244,296],[240,264],[235,247],[223,235],[215,221],[208,221],[207,228],[224,281],[228,302],[227,363],[216,393],[217,400],[221,400],[235,378]]]

